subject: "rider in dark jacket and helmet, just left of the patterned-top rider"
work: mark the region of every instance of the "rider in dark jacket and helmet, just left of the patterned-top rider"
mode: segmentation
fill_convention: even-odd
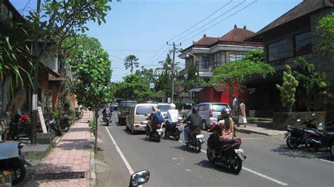
[[[188,115],[185,120],[183,120],[183,123],[188,121],[190,124],[185,126],[185,130],[183,132],[185,135],[185,143],[189,142],[190,132],[201,127],[202,117],[197,113],[197,108],[192,108],[192,114]]]

